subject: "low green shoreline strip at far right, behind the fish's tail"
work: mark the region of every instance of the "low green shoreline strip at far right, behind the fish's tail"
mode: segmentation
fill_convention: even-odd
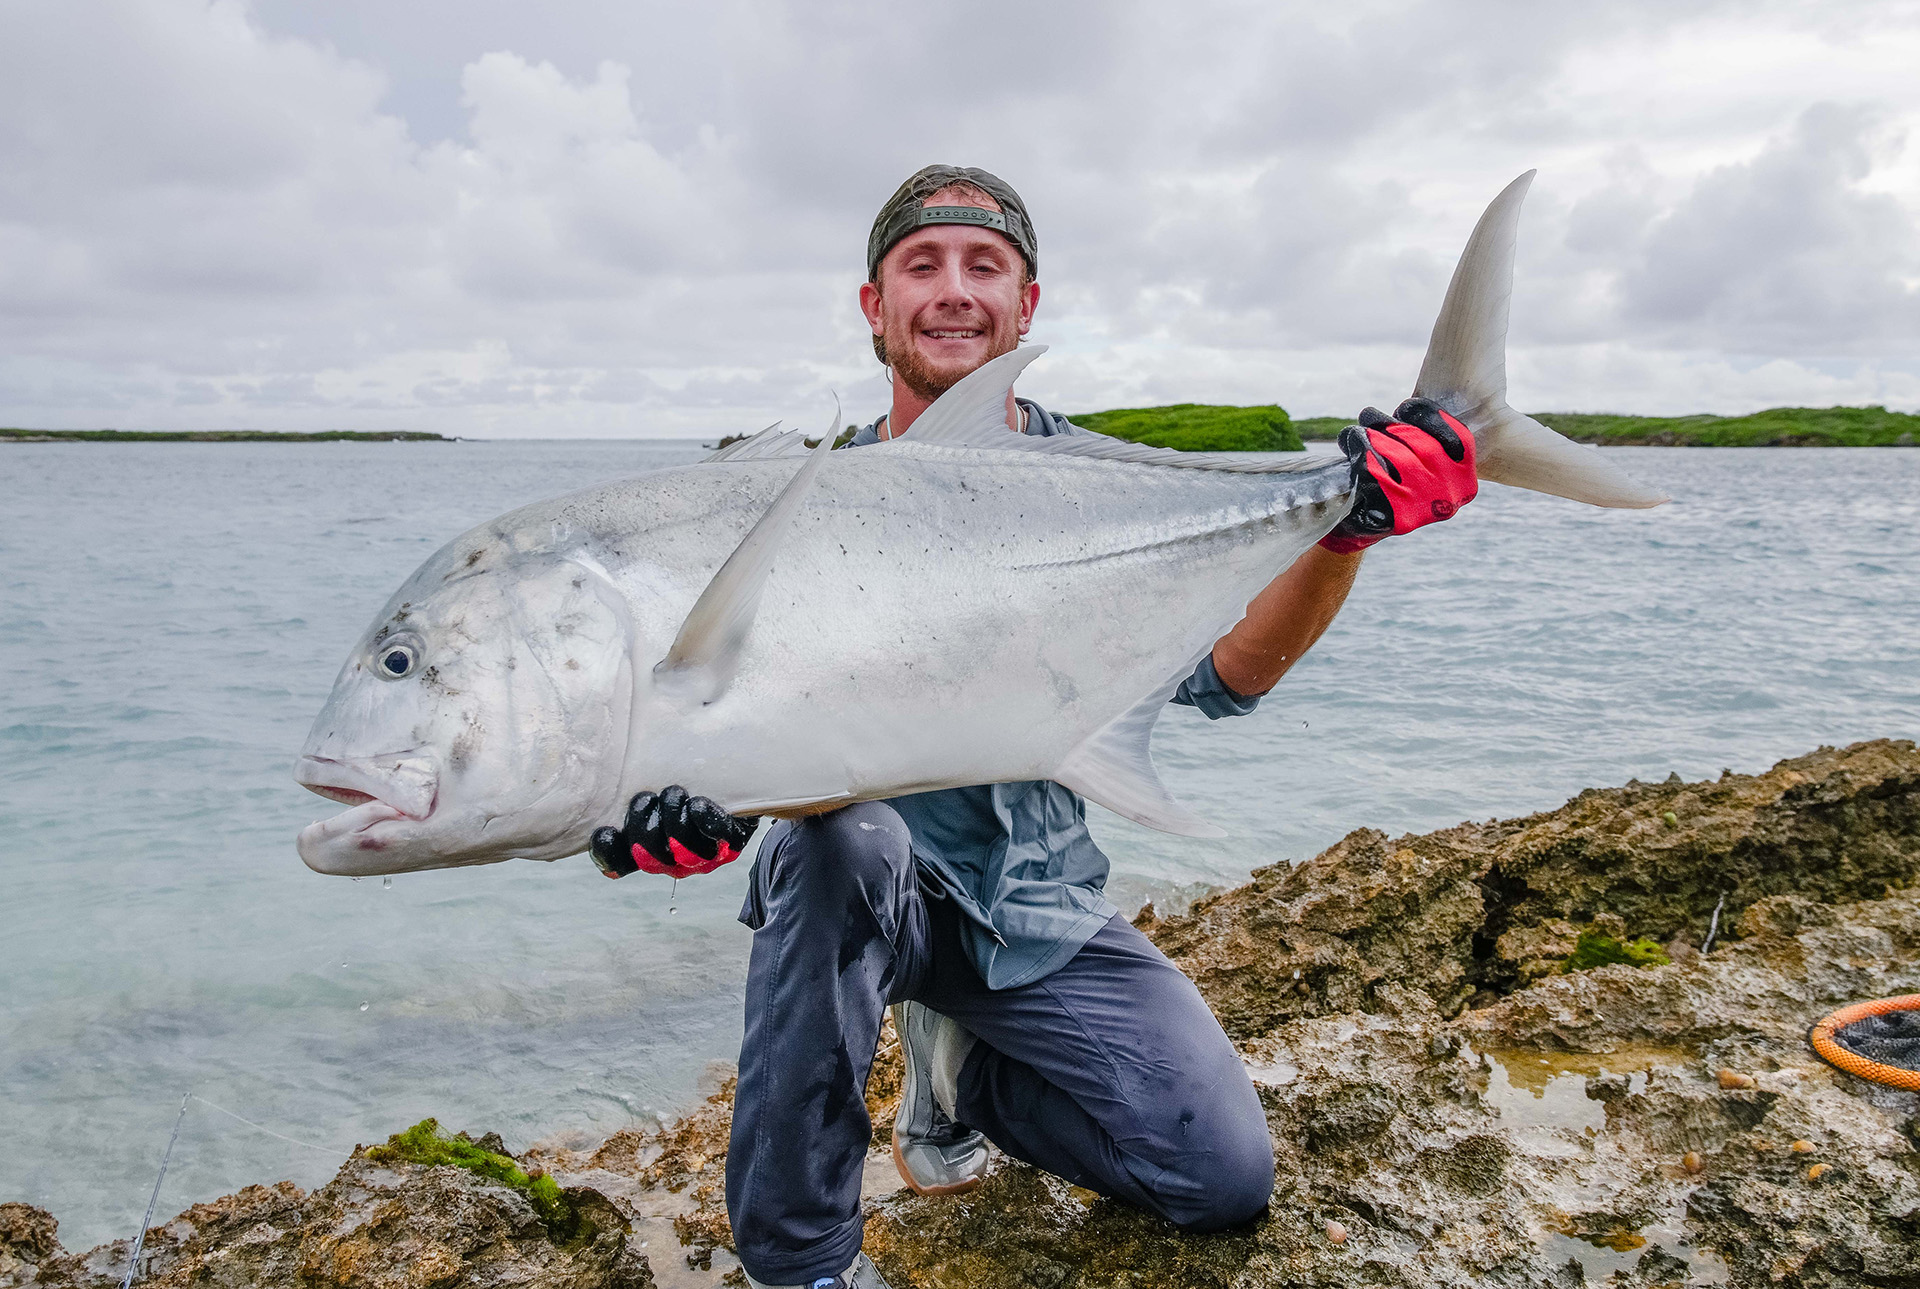
[[[1615,417],[1540,411],[1534,419],[1567,438],[1607,448],[1912,448],[1920,415],[1885,407],[1770,407],[1749,417]],[[1302,438],[1338,438],[1348,417],[1294,421]]]

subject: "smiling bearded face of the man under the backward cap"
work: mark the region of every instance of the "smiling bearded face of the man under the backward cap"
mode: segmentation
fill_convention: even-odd
[[[927,204],[998,209],[964,192],[937,192]],[[929,401],[1018,348],[1041,300],[1014,244],[968,225],[916,229],[887,252],[877,277],[877,286],[860,288],[860,307],[887,344],[893,375]]]

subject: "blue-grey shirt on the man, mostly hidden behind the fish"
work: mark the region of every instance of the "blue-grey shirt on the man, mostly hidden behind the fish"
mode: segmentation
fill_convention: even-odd
[[[1091,434],[1066,417],[1020,400],[1027,434]],[[879,442],[879,421],[849,448]],[[1175,703],[1210,718],[1244,717],[1260,697],[1229,690],[1212,655],[1181,682]],[[952,899],[966,914],[964,939],[989,989],[1012,989],[1062,966],[1117,909],[1108,903],[1108,857],[1087,832],[1087,803],[1050,780],[943,788],[893,797],[914,838],[914,861],[933,897]],[[760,891],[747,897],[741,920],[758,924]]]

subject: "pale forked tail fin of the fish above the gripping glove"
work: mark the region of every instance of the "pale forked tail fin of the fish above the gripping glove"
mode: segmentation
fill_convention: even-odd
[[[1501,190],[1459,255],[1434,319],[1417,398],[1428,398],[1473,430],[1480,478],[1588,505],[1647,507],[1667,494],[1647,488],[1592,448],[1507,407],[1507,309],[1521,204],[1536,171]]]

